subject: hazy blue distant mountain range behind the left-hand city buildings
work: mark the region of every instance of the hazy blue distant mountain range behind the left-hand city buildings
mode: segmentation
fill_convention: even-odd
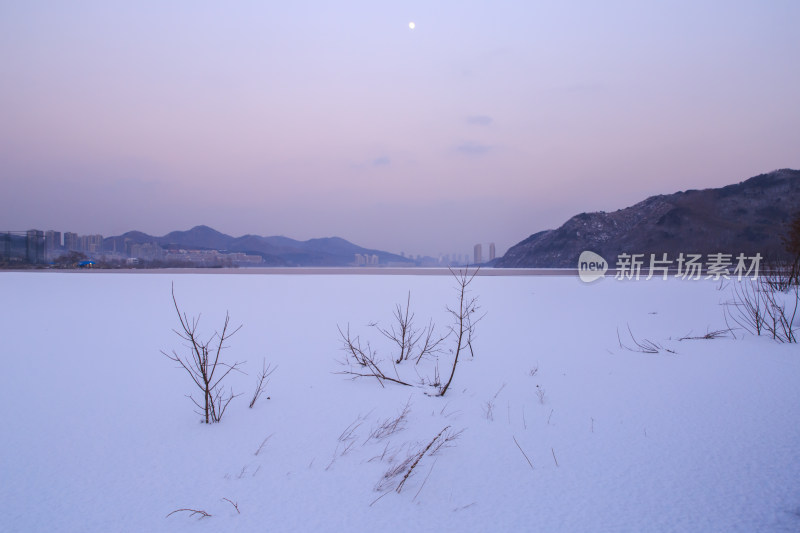
[[[163,237],[154,237],[140,231],[129,231],[103,242],[106,250],[125,250],[131,244],[157,244],[170,249],[224,250],[260,255],[264,266],[347,266],[355,261],[356,254],[377,256],[380,265],[408,264],[405,257],[381,250],[362,248],[339,237],[296,241],[288,237],[261,237],[243,235],[231,237],[208,226],[195,226],[188,231],[173,231]]]

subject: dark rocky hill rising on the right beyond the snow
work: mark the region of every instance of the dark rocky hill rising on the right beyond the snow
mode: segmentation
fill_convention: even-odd
[[[494,266],[576,268],[584,250],[612,265],[621,253],[785,257],[781,239],[798,212],[800,171],[776,170],[718,189],[653,196],[613,213],[581,213],[511,247]]]

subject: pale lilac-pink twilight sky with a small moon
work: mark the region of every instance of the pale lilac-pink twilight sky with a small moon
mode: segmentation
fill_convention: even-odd
[[[794,0],[0,2],[0,230],[502,254],[800,168],[798,21]]]

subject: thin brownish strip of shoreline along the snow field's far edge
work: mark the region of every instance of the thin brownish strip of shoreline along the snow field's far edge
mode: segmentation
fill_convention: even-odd
[[[453,268],[453,272],[464,267]],[[473,267],[470,267],[470,271]],[[247,275],[348,275],[348,276],[449,276],[447,268],[424,267],[250,267],[250,268],[81,268],[9,269],[4,272],[66,274],[247,274]],[[478,276],[577,276],[574,268],[481,268]]]

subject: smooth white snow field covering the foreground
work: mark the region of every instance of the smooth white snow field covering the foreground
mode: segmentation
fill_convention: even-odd
[[[161,353],[185,350],[173,282],[204,335],[226,310],[243,325],[223,357],[248,375],[229,376],[243,395],[219,424],[200,423],[194,384]],[[368,324],[390,326],[410,291],[417,324],[444,329],[454,286],[0,273],[0,530],[800,530],[797,345],[742,331],[678,340],[726,328],[730,287],[479,276],[475,357],[444,397],[337,373],[337,325],[388,355]],[[660,352],[621,347],[635,348],[628,327]],[[278,368],[250,409],[264,358]],[[440,374],[451,359],[440,355]],[[370,437],[407,403],[394,432]],[[422,453],[447,427],[439,440],[458,438]]]

